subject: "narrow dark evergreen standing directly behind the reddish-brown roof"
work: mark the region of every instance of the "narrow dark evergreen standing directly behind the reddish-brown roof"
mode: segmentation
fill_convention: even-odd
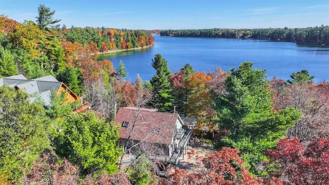
[[[162,58],[161,54],[156,54],[152,59],[152,67],[156,70],[156,74],[152,77],[151,84],[155,91],[154,106],[162,112],[170,112],[174,98],[172,96],[173,89],[170,86],[169,76],[171,74],[167,60]]]

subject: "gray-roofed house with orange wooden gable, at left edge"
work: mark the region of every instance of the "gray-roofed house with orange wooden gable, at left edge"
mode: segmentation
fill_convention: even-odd
[[[80,100],[71,89],[51,75],[32,80],[26,79],[23,75],[0,78],[0,86],[3,85],[9,85],[15,89],[22,89],[29,95],[33,95],[30,97],[30,101],[32,102],[41,98],[45,103],[45,106],[50,105],[50,95],[52,90],[56,91],[57,94],[65,93],[66,102],[64,103]],[[88,107],[88,105],[83,104],[83,106],[77,108],[76,112],[82,112]]]

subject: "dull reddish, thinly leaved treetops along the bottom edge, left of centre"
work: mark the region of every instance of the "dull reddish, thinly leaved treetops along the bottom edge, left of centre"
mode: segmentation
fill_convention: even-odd
[[[60,164],[61,163],[61,164]],[[107,175],[106,173],[92,175],[89,174],[82,178],[79,176],[80,170],[76,165],[71,164],[64,159],[63,162],[54,155],[49,149],[46,149],[42,156],[38,158],[31,171],[25,174],[23,179],[24,184],[125,184],[129,185],[131,182],[123,172],[117,174]],[[0,178],[0,184],[2,183]]]

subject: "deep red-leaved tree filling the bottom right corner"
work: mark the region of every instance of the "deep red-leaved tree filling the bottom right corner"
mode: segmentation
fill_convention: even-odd
[[[299,139],[282,139],[268,156],[280,164],[286,184],[329,184],[329,137],[318,138],[306,150]]]

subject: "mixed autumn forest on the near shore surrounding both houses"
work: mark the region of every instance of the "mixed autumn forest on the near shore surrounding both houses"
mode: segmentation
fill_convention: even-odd
[[[156,54],[150,81],[127,81],[122,61],[115,68],[95,53],[150,46],[150,33],[60,28],[54,11],[40,5],[38,13],[24,23],[0,16],[0,78],[53,75],[90,109],[75,114],[81,102],[52,93],[45,105],[0,86],[0,184],[329,184],[329,83],[315,84],[306,69],[287,81],[268,80],[252,62],[209,73],[186,64],[172,73]],[[148,158],[157,145],[140,143],[121,166],[127,151],[113,120],[125,106],[167,113],[175,106],[196,120],[194,136],[212,152],[191,151],[192,171],[160,178],[166,165]]]

